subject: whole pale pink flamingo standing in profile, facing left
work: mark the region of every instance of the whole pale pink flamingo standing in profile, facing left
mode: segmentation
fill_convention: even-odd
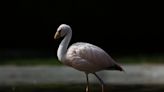
[[[72,37],[72,29],[69,25],[61,24],[57,28],[54,39],[60,37],[64,38],[57,50],[58,60],[64,65],[85,72],[87,80],[86,92],[89,92],[90,89],[88,74],[91,73],[96,76],[100,81],[101,91],[104,92],[104,82],[96,72],[101,70],[124,71],[109,54],[96,45],[86,42],[76,42],[68,48]]]

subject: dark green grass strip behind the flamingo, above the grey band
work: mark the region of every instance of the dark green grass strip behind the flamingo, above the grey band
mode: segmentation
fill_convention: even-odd
[[[118,63],[126,64],[160,64],[164,63],[164,54],[160,55],[136,55],[136,56],[120,56],[114,58]],[[0,65],[63,65],[56,58],[24,58],[24,59],[8,59],[1,60]]]

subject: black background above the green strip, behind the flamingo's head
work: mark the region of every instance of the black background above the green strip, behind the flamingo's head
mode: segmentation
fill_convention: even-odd
[[[163,53],[161,2],[19,0],[3,2],[0,57],[52,56],[57,27],[69,24],[71,43],[89,42],[112,55]]]

